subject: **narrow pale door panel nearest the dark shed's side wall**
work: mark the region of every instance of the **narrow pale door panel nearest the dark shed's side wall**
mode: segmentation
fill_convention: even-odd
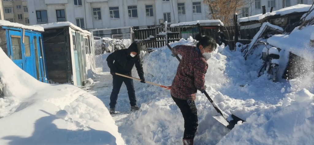
[[[77,48],[77,45],[76,45],[76,35],[73,32],[72,32],[72,41],[73,41],[76,85],[77,86],[82,86],[81,73],[80,73],[79,61],[78,61],[78,48]]]

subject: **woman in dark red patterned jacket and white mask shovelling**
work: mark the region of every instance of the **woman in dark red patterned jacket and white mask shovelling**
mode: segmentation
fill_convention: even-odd
[[[196,35],[195,40],[198,41],[196,47],[179,45],[172,48],[172,56],[177,54],[182,56],[171,85],[171,97],[180,108],[184,118],[183,145],[193,145],[198,127],[197,109],[194,102],[196,92],[197,90],[205,92],[207,60],[211,56],[210,53],[217,48],[215,40],[211,37]]]

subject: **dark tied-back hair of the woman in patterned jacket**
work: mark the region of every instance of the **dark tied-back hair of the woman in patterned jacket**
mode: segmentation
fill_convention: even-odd
[[[202,36],[200,34],[195,35],[195,40],[198,41],[198,43],[196,44],[196,47],[199,48],[200,45],[203,46],[203,48],[206,48],[207,46],[211,46],[211,51],[215,51],[217,48],[217,44],[216,41],[214,40],[214,38],[210,37],[210,36]]]

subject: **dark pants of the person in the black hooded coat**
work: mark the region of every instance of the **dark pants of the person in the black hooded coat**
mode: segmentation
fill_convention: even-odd
[[[116,108],[116,103],[118,99],[118,94],[120,92],[120,88],[122,83],[127,86],[127,94],[129,95],[130,104],[131,106],[136,105],[136,98],[135,98],[135,91],[134,91],[134,85],[133,85],[133,79],[126,78],[118,75],[112,76],[112,84],[113,89],[110,95],[110,108]]]

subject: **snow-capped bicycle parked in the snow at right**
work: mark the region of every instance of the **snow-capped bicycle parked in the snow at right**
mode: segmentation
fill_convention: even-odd
[[[279,51],[275,47],[268,48],[268,44],[263,41],[258,41],[259,43],[263,43],[265,45],[262,53],[263,64],[259,68],[258,77],[263,75],[263,73],[267,70],[268,77],[272,79],[273,82],[276,82],[277,72],[279,70]],[[265,49],[266,48],[266,49]],[[269,51],[271,50],[271,51]]]

